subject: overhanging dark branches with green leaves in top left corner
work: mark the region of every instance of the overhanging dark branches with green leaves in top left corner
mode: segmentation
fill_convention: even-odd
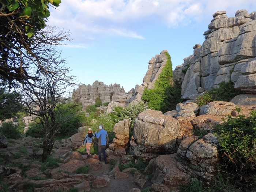
[[[47,73],[45,63],[38,58],[35,38],[44,29],[50,16],[49,6],[59,6],[60,0],[1,0],[0,2],[0,76],[8,82],[23,83],[38,79],[30,74],[31,68]],[[30,60],[29,62],[27,62]],[[46,63],[47,64],[47,63]]]

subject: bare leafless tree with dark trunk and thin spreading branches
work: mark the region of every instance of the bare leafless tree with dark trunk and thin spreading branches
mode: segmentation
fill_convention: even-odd
[[[54,136],[61,125],[75,115],[64,115],[75,105],[69,105],[65,109],[61,109],[63,105],[60,105],[60,103],[69,102],[63,94],[75,83],[73,76],[69,75],[70,70],[65,65],[65,59],[60,57],[60,52],[56,49],[56,45],[62,45],[61,41],[69,39],[69,34],[62,31],[56,34],[54,27],[48,27],[31,38],[34,44],[31,44],[30,48],[37,54],[37,59],[44,66],[44,70],[30,68],[28,71],[30,76],[33,75],[36,78],[24,78],[22,83],[14,81],[12,85],[15,90],[22,91],[23,104],[27,107],[26,112],[36,117],[38,124],[44,128],[42,157],[44,162],[52,150]],[[26,56],[24,60],[27,63],[34,61]]]

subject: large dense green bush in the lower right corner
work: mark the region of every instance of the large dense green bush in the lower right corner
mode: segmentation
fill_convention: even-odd
[[[237,187],[255,185],[256,179],[256,111],[251,116],[228,116],[214,127],[219,140],[218,151],[227,172],[233,174]],[[254,186],[255,187],[255,186]]]

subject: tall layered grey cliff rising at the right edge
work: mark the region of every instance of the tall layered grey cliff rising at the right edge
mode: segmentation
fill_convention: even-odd
[[[218,87],[222,81],[232,81],[235,88],[256,93],[255,14],[246,10],[238,10],[230,18],[225,14],[218,11],[213,15],[203,45],[194,46],[194,54],[174,70],[177,79],[175,75],[189,64],[182,82],[183,99]]]

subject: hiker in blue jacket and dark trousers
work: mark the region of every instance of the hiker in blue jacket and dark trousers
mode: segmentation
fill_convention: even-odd
[[[95,131],[95,136],[99,139],[98,141],[98,150],[99,150],[99,161],[101,161],[101,151],[103,153],[104,161],[107,163],[107,157],[106,157],[106,144],[109,143],[109,136],[108,133],[103,129],[102,125],[99,125],[99,133]]]

